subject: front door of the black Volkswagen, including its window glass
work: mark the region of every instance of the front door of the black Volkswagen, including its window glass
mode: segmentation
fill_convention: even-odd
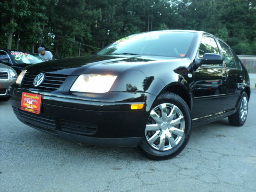
[[[204,36],[198,50],[198,57],[205,53],[220,54],[216,40]],[[226,109],[227,74],[224,64],[204,64],[194,71],[194,104],[192,120],[214,116]]]

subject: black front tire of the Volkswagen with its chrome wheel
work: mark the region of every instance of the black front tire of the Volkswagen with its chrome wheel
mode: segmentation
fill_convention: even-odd
[[[163,92],[152,105],[142,142],[137,149],[152,160],[169,159],[184,149],[190,133],[188,105],[180,96]]]

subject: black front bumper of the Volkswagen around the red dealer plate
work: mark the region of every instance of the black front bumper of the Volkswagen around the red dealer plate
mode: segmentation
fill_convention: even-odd
[[[20,110],[22,92],[40,94],[40,114]],[[24,124],[66,140],[101,146],[137,146],[155,96],[148,93],[83,94],[39,92],[12,85],[10,103]],[[130,105],[144,103],[142,110]]]

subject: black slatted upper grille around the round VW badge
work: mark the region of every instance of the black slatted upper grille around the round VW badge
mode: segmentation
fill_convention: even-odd
[[[66,80],[68,77],[67,75],[59,75],[59,74],[50,74],[46,73],[45,79],[38,87],[34,87],[33,82],[36,76],[39,73],[26,73],[23,80],[22,80],[22,86],[29,87],[29,88],[37,88],[41,90],[57,90],[60,88],[62,83]]]

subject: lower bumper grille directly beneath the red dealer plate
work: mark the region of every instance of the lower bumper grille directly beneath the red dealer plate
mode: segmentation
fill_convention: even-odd
[[[56,128],[55,120],[52,117],[42,116],[42,115],[26,112],[23,110],[19,110],[19,112],[22,119],[26,123],[30,124],[31,126],[36,126],[40,128],[50,128],[50,129]]]

